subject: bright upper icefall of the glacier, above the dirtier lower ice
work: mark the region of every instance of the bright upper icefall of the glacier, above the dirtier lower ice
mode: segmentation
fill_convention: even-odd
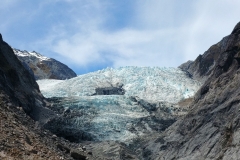
[[[159,67],[107,68],[64,81],[37,82],[45,97],[91,96],[98,89],[117,88],[126,96],[171,103],[193,96],[201,85],[178,68]]]

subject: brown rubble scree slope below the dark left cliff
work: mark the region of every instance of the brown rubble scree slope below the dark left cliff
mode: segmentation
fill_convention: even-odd
[[[72,159],[57,149],[51,134],[40,130],[37,123],[0,90],[0,159],[59,160]],[[61,143],[59,143],[61,144]]]

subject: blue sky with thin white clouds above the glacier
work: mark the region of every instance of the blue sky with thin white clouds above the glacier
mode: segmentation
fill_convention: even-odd
[[[238,0],[2,0],[12,47],[77,74],[120,66],[177,67],[231,33]]]

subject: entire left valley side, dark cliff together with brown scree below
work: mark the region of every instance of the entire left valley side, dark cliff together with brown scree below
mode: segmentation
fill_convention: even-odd
[[[40,128],[54,115],[45,105],[34,77],[0,34],[0,159],[73,159]]]

